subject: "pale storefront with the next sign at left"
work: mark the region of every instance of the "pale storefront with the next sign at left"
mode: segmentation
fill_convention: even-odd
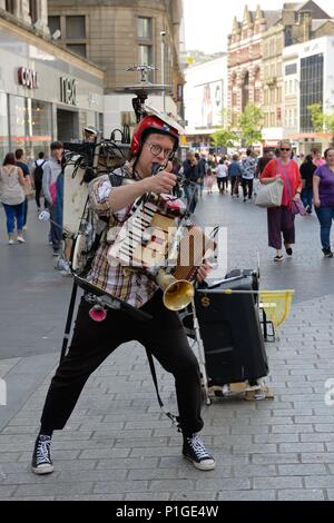
[[[102,127],[105,73],[0,18],[0,161],[22,148],[28,158],[52,140],[77,140]]]

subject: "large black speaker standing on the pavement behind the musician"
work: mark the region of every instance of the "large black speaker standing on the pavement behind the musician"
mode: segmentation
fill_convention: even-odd
[[[228,278],[198,289],[196,313],[204,344],[209,385],[248,381],[268,374],[258,312],[255,272],[233,272]],[[232,289],[232,294],[217,290]],[[233,294],[233,290],[238,290]],[[246,290],[245,294],[240,292]]]

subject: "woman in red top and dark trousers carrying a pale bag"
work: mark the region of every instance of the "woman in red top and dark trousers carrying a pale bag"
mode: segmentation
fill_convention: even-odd
[[[268,245],[276,249],[274,262],[282,262],[282,236],[285,251],[292,256],[292,245],[295,244],[295,214],[303,213],[301,201],[303,184],[298,165],[291,158],[288,140],[281,141],[279,157],[271,160],[261,176],[261,182],[264,185],[275,181],[283,184],[283,193],[281,205],[267,208]]]

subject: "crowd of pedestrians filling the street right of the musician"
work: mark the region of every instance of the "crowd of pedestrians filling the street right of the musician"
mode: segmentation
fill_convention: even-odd
[[[206,187],[212,195],[215,184],[220,195],[254,201],[262,185],[281,180],[283,184],[282,205],[267,209],[268,246],[276,250],[274,262],[293,256],[295,244],[295,216],[312,215],[315,209],[321,226],[321,244],[326,258],[333,257],[331,228],[334,219],[334,149],[314,150],[312,154],[295,156],[289,141],[283,140],[278,148],[264,148],[257,157],[253,149],[217,158],[216,155],[200,156],[188,151],[186,160],[177,170],[191,181],[186,186],[185,196],[191,211]],[[194,189],[195,186],[195,189]],[[297,209],[297,210],[296,210]]]

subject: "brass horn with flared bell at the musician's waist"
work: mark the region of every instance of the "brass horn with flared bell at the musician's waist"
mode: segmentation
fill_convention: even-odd
[[[164,290],[164,305],[169,310],[181,310],[194,299],[194,285],[186,279],[176,279],[171,274],[159,270],[157,284]]]

